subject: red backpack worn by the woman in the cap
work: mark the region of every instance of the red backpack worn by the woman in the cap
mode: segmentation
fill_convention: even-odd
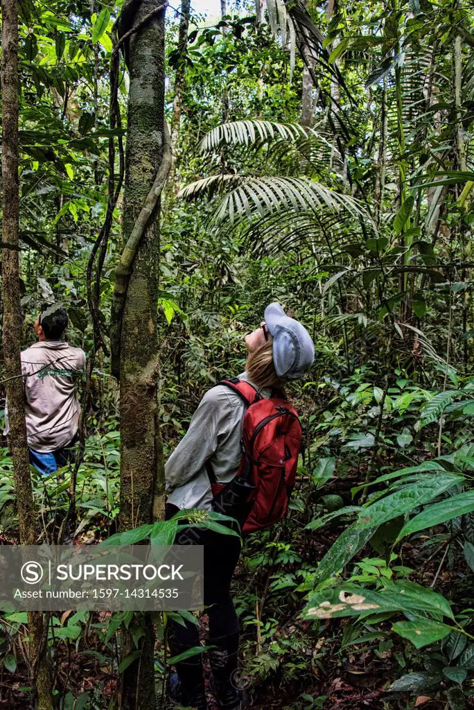
[[[209,461],[206,469],[218,513],[236,518],[242,534],[268,528],[287,512],[294,487],[302,427],[297,410],[281,391],[266,399],[238,378],[223,380],[246,404],[242,459],[236,476],[221,484]]]

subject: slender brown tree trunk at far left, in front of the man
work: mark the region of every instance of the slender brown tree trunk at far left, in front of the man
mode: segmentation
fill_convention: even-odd
[[[3,98],[3,141],[1,176],[3,182],[1,295],[4,305],[3,349],[6,397],[9,403],[10,446],[22,545],[36,541],[35,505],[31,489],[25,404],[21,378],[21,308],[18,259],[18,7],[16,0],[2,2],[1,87]],[[46,657],[43,614],[28,612],[31,638],[31,674],[39,710],[52,710],[51,683]],[[46,631],[46,629],[44,629]]]

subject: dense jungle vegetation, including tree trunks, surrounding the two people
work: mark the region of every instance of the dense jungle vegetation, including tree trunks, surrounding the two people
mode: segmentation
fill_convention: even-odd
[[[233,587],[247,706],[474,706],[473,5],[4,0],[2,24],[2,408],[43,302],[87,354],[63,483],[1,442],[3,544],[60,541],[54,509],[76,544],[169,539],[163,461],[279,300],[316,360],[291,509]],[[0,708],[165,707],[165,623],[1,611]]]

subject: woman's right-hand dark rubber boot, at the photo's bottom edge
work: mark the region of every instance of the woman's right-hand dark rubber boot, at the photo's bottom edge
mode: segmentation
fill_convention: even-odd
[[[238,667],[238,633],[209,639],[206,643],[218,647],[209,650],[209,663],[211,690],[220,710],[241,710],[241,697],[233,684]]]

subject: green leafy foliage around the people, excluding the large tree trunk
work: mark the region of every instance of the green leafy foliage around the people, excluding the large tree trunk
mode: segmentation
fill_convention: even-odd
[[[111,28],[119,9],[20,7],[25,346],[45,299],[67,303],[72,344],[88,354],[94,346],[84,275],[106,212],[109,137],[117,149],[126,131],[123,60],[122,126],[109,128]],[[390,708],[407,704],[402,693],[438,693],[442,703],[461,708],[470,701],[474,671],[472,17],[464,2],[453,9],[404,0],[397,9],[341,1],[331,17],[316,2],[307,13],[270,3],[266,20],[233,15],[230,6],[215,25],[193,14],[183,49],[180,18],[167,12],[165,111],[171,119],[176,72],[184,68],[175,179],[180,197],[189,199],[177,198],[172,186],[162,196],[156,255],[165,454],[202,393],[243,370],[242,336],[260,323],[268,302],[292,308],[316,346],[308,377],[288,387],[304,426],[297,487],[285,522],[246,540],[233,586],[255,707],[261,697],[268,706],[270,682],[281,706],[285,694],[295,709],[342,705],[343,690],[331,681],[364,657],[393,681],[384,697]],[[308,43],[318,57],[317,89],[306,93],[312,126],[302,126],[304,62],[297,48]],[[97,279],[106,340],[122,212],[119,202]],[[81,542],[165,545],[181,529],[180,516],[116,533],[118,388],[109,368],[99,352],[75,532]],[[50,508],[67,510],[70,474],[62,471],[58,484],[32,471],[42,519]],[[236,535],[212,513],[186,515],[193,525]],[[17,540],[6,448],[0,533]],[[355,608],[341,594],[377,608]],[[326,602],[343,604],[333,621],[307,616],[308,608],[328,613]],[[185,612],[169,616],[196,623]],[[2,618],[9,624],[0,637],[8,679],[23,672],[18,638],[26,617]],[[138,657],[138,648],[125,659],[116,653],[116,636],[131,621],[126,613],[53,616],[48,643],[55,645],[55,677],[65,683],[59,706],[104,706],[104,676]],[[134,621],[139,645],[140,615]],[[165,642],[156,621],[161,683]],[[94,664],[90,697],[74,674],[62,674],[66,652]]]

